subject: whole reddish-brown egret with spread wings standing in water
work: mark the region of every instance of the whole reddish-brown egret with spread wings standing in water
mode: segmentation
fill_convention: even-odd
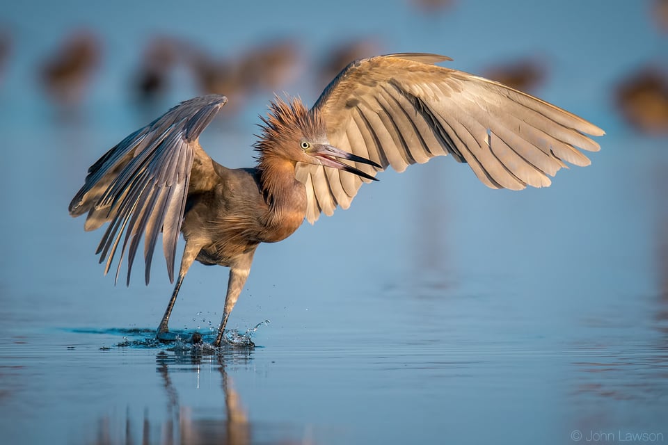
[[[355,60],[311,108],[299,97],[274,95],[260,118],[250,168],[226,168],[199,143],[227,97],[186,100],[95,162],[70,215],[87,213],[87,231],[108,223],[97,254],[106,274],[120,247],[116,280],[126,257],[128,285],[141,238],[149,283],[159,234],[174,282],[183,235],[179,272],[157,328],[163,341],[175,338],[168,321],[193,262],[228,267],[213,342],[220,347],[257,246],[282,241],[321,213],[348,209],[360,186],[382,170],[402,172],[450,155],[486,186],[520,190],[549,186],[566,162],[589,165],[581,150],[600,149],[591,137],[603,129],[498,82],[437,65],[447,60],[427,53]]]

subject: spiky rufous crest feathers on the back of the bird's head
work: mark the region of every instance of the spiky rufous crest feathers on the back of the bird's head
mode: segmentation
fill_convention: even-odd
[[[269,104],[269,114],[265,118],[261,116],[260,124],[262,133],[257,136],[259,140],[255,143],[255,151],[264,154],[276,154],[281,156],[280,145],[287,140],[299,141],[300,138],[315,138],[321,129],[324,129],[318,113],[308,111],[299,98],[283,101],[278,96]]]

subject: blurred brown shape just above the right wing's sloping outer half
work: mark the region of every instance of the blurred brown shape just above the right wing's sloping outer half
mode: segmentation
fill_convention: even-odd
[[[524,92],[534,92],[548,76],[546,64],[527,57],[502,63],[484,71],[484,77]]]

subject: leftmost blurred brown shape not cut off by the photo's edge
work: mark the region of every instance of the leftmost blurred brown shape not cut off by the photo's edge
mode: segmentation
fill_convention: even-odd
[[[100,64],[102,47],[90,31],[75,31],[42,64],[41,80],[58,104],[77,106]]]

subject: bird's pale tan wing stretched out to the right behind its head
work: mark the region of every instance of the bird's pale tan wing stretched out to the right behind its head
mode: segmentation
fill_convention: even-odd
[[[321,113],[329,143],[402,172],[452,154],[488,187],[545,187],[564,161],[589,165],[577,148],[598,151],[594,124],[541,99],[461,71],[434,65],[435,54],[392,54],[358,60],[324,90]],[[356,165],[369,175],[376,169]],[[363,181],[349,172],[298,164],[307,188],[307,219],[347,209]]]

